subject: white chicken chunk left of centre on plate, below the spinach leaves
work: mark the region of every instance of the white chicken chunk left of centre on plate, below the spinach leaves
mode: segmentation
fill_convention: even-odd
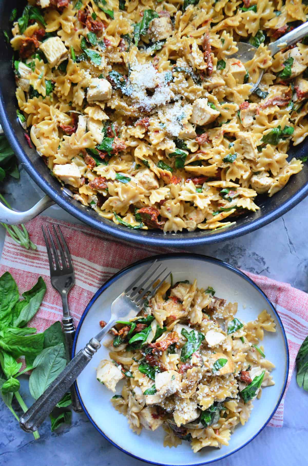
[[[173,395],[180,388],[182,376],[176,370],[165,370],[163,372],[156,373],[155,375],[155,388],[156,393],[154,395],[146,395],[146,404],[157,404],[161,401]]]

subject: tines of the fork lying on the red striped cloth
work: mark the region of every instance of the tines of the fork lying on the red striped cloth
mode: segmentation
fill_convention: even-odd
[[[60,226],[57,225],[57,230],[56,230],[56,228],[53,225],[54,238],[55,238],[57,247],[54,244],[54,239],[53,239],[53,236],[52,236],[48,226],[46,226],[46,229],[47,229],[48,238],[50,240],[50,245],[49,245],[49,242],[47,240],[47,234],[45,232],[45,228],[42,225],[42,232],[43,232],[45,244],[46,244],[46,247],[47,247],[47,255],[48,255],[48,260],[49,260],[50,272],[52,272],[54,270],[54,271],[57,271],[57,272],[63,271],[66,274],[67,273],[74,273],[74,268],[73,268],[71,255],[69,254],[67,244],[66,244],[66,242],[64,240],[64,237],[63,237],[63,234],[62,234],[62,232],[60,230]],[[59,238],[59,236],[60,236],[60,238]],[[61,244],[60,240],[61,240],[62,244]],[[63,247],[62,247],[62,245],[63,245]],[[58,248],[58,252],[59,252],[59,255],[60,255],[61,264],[60,264],[57,248]],[[64,248],[64,250],[63,250],[63,248]]]

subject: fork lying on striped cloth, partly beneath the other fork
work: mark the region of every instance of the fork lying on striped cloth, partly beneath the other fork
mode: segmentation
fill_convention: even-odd
[[[51,246],[49,245],[44,226],[42,225],[42,232],[44,235],[44,240],[45,240],[45,244],[47,247],[47,255],[48,255],[48,260],[49,260],[50,281],[54,289],[56,289],[60,293],[61,298],[62,298],[62,308],[63,308],[62,324],[63,324],[63,333],[65,336],[65,348],[66,348],[67,362],[69,363],[69,361],[72,359],[75,328],[74,328],[73,318],[71,317],[69,313],[69,309],[68,309],[67,295],[68,295],[69,290],[75,284],[75,274],[74,274],[74,267],[73,267],[71,254],[69,254],[67,244],[60,230],[60,226],[58,225],[58,233],[60,235],[60,239],[62,241],[67,260],[65,258],[64,251],[60,243],[59,235],[54,225],[53,225],[53,230],[54,230],[54,237],[57,243],[58,251],[60,254],[62,267],[60,265],[59,257],[57,254],[57,248],[55,247],[54,240],[50,233],[50,230],[47,226],[47,233],[48,233],[48,238],[50,240]],[[74,387],[74,384],[72,384],[72,386],[70,387],[70,392],[72,396],[72,407],[74,411],[77,411],[77,412],[83,411],[79,398],[77,396],[77,392]]]

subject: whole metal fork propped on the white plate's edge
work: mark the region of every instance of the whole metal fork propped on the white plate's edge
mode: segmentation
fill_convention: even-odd
[[[43,420],[47,418],[48,414],[54,409],[54,406],[67,392],[74,380],[76,380],[82,370],[84,370],[91,361],[92,356],[101,346],[100,341],[107,334],[108,330],[110,330],[118,320],[127,320],[135,317],[143,308],[145,299],[152,298],[160,287],[161,282],[167,279],[170,274],[170,272],[165,274],[167,267],[162,270],[162,264],[156,266],[156,262],[157,260],[154,260],[154,262],[152,262],[145,271],[142,271],[133,283],[114,300],[111,305],[111,317],[107,325],[105,325],[94,338],[91,338],[83,349],[80,349],[54,382],[49,385],[47,390],[44,391],[20,418],[20,427],[24,431],[34,432],[40,427]],[[161,278],[162,276],[163,278]],[[157,281],[159,282],[156,283]]]

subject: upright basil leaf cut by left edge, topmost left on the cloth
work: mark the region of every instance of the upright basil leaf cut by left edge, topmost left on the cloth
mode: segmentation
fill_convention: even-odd
[[[18,288],[9,272],[0,277],[0,322],[8,325],[12,319],[12,308],[19,300]]]

